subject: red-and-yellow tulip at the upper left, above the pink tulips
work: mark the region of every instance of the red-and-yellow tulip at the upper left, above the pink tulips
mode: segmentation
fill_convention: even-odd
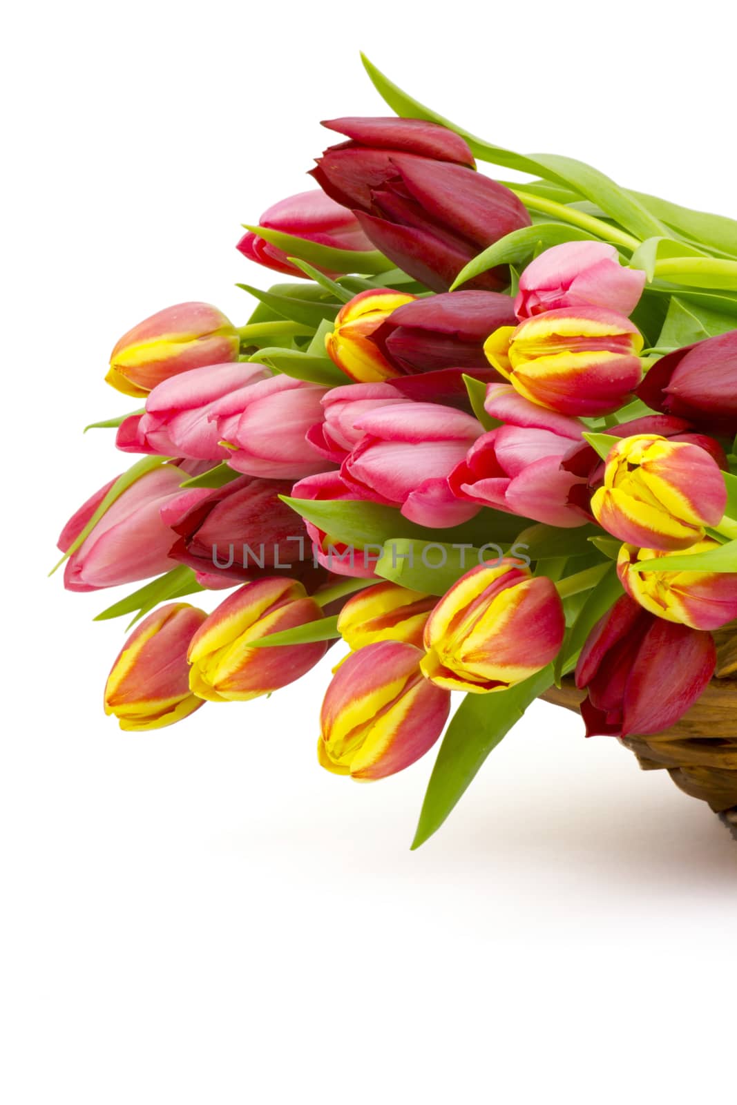
[[[110,354],[106,381],[126,396],[147,396],[170,376],[238,360],[232,323],[208,303],[179,303],[124,334]]]

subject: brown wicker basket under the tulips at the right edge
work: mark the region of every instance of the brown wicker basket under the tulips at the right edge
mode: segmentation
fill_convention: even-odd
[[[670,729],[622,744],[645,771],[666,770],[681,790],[707,802],[737,838],[737,634],[730,627],[714,635],[716,673],[698,702]],[[585,695],[566,678],[543,697],[578,711]]]

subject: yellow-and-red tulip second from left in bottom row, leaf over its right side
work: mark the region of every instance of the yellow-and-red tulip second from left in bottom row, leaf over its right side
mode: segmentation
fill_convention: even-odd
[[[323,659],[327,642],[250,645],[322,617],[317,602],[294,579],[266,577],[240,587],[191,640],[190,690],[208,702],[248,702],[294,683]]]

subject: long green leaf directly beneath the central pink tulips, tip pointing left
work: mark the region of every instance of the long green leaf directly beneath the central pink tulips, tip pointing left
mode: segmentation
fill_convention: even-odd
[[[394,506],[368,503],[357,499],[312,499],[289,498],[283,501],[301,517],[318,526],[328,535],[328,540],[352,546],[356,549],[376,548],[377,552],[386,541],[401,538],[417,538],[435,543],[440,537],[444,543],[466,543],[483,546],[488,541],[497,545],[513,541],[519,526],[530,525],[529,518],[518,518],[513,514],[484,508],[470,522],[449,529],[431,529],[410,522]],[[378,548],[377,548],[378,546]]]

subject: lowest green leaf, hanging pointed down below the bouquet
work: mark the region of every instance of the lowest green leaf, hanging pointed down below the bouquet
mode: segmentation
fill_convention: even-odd
[[[438,753],[412,841],[419,848],[440,829],[491,751],[523,716],[531,702],[552,683],[552,667],[507,691],[467,694]]]

